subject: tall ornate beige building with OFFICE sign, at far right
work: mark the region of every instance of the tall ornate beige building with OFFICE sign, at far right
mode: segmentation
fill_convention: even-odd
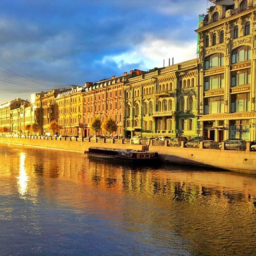
[[[256,1],[212,1],[199,35],[202,134],[256,138]]]

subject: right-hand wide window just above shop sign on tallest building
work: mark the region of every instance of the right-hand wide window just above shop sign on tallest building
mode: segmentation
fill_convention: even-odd
[[[231,95],[231,112],[250,111],[250,92]]]

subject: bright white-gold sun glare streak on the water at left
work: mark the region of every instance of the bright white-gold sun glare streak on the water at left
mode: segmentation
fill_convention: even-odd
[[[24,152],[20,152],[20,169],[19,176],[17,177],[18,184],[18,192],[20,193],[20,197],[24,197],[27,189],[28,189],[28,175],[25,170],[25,159],[26,154]]]

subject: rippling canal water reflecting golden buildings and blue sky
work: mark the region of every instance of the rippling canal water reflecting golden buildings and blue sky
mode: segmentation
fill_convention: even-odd
[[[256,176],[0,144],[1,256],[255,256]]]

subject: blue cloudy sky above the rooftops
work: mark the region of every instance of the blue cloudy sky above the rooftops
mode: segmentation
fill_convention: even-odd
[[[196,58],[207,0],[1,0],[0,104]]]

